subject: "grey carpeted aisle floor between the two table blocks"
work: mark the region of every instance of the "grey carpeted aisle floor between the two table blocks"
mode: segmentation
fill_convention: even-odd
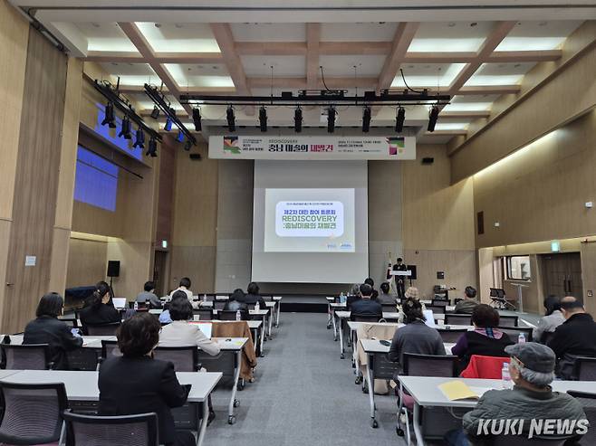
[[[326,320],[326,314],[282,314],[255,383],[238,392],[236,424],[227,424],[229,393],[214,394],[217,418],[206,445],[405,444],[395,433],[395,396],[376,396],[379,428],[370,427],[368,395],[354,384],[350,359],[340,359]]]

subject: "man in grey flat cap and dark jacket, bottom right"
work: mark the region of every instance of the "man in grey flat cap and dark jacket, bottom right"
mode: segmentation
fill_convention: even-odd
[[[449,432],[447,443],[457,446],[470,444],[464,435],[466,432],[468,439],[474,444],[492,444],[490,437],[478,435],[479,431],[483,431],[478,429],[481,420],[494,420],[497,430],[500,420],[524,420],[520,437],[526,439],[531,420],[561,420],[563,425],[569,423],[576,426],[573,432],[564,433],[582,433],[582,423],[585,423],[585,427],[588,426],[582,404],[571,395],[553,392],[550,386],[554,379],[553,350],[542,344],[526,342],[506,346],[505,351],[511,356],[509,373],[514,388],[486,392],[476,407],[464,415],[463,432]],[[581,420],[583,422],[577,424]],[[554,431],[556,429],[555,427]],[[541,432],[534,432],[534,435],[537,433]],[[540,441],[535,443],[542,444]]]

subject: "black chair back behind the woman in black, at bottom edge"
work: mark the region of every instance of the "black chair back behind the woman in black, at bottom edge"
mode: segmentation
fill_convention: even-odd
[[[157,413],[91,416],[66,411],[66,446],[158,446]]]

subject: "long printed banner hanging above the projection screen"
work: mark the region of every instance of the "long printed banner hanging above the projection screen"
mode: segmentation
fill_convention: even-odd
[[[414,137],[209,137],[209,157],[227,159],[416,159]]]

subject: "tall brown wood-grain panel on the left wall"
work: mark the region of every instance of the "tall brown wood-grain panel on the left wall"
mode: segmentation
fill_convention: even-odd
[[[8,249],[5,332],[19,331],[48,290],[62,144],[66,56],[31,28]],[[37,257],[25,267],[25,255]]]

